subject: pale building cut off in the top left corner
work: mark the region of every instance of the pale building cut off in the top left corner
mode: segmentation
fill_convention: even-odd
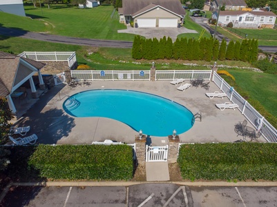
[[[22,0],[1,0],[0,11],[26,17]]]

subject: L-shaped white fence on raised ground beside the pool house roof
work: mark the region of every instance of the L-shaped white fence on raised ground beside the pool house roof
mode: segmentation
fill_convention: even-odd
[[[22,52],[19,56],[35,61],[67,61],[69,68],[77,61],[75,52]]]

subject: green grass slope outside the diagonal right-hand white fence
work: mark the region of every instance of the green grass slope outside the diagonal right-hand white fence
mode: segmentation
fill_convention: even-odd
[[[228,71],[243,90],[258,100],[271,115],[277,117],[277,75],[246,70]]]

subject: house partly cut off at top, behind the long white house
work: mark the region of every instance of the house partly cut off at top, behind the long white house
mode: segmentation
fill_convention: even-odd
[[[211,1],[210,10],[216,11],[222,6],[225,6],[225,11],[226,10],[239,11],[239,10],[242,10],[242,8],[247,8],[247,4],[245,3],[245,0],[214,0],[214,1]]]

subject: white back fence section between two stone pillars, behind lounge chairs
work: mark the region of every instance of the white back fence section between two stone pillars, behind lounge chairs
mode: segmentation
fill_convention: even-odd
[[[211,79],[212,70],[156,70],[155,80],[166,81],[173,79]]]

